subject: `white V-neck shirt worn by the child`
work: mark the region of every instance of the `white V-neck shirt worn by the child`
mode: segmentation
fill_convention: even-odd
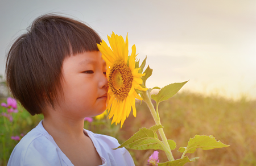
[[[85,130],[85,129],[84,129]],[[117,148],[117,139],[85,130],[92,140],[98,155],[102,160],[101,166],[134,166],[130,153],[125,148]],[[73,166],[68,157],[60,150],[52,136],[44,129],[42,121],[28,132],[15,146],[7,166]]]

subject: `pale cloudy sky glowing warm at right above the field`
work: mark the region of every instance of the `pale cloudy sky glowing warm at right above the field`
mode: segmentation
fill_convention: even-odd
[[[188,81],[182,90],[256,99],[256,1],[1,0],[0,75],[15,38],[40,15],[86,22],[103,40],[112,32],[136,45],[153,74],[152,88]]]

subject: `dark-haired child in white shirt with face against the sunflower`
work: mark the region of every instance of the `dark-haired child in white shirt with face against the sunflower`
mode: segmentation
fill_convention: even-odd
[[[7,54],[11,94],[38,126],[20,140],[8,165],[134,165],[116,139],[85,130],[84,118],[106,109],[100,36],[85,24],[47,14],[35,19]]]

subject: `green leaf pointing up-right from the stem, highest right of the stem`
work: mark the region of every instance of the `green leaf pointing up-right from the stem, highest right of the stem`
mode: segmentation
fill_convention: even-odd
[[[164,88],[162,88],[158,94],[152,94],[151,98],[154,99],[157,103],[165,101],[168,98],[174,96],[187,82],[188,81],[164,86]]]

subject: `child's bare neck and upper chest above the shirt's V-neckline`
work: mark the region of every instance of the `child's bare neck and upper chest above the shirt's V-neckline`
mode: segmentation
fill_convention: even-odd
[[[84,119],[71,119],[56,111],[44,114],[43,126],[74,165],[102,164],[92,140],[84,134]]]

